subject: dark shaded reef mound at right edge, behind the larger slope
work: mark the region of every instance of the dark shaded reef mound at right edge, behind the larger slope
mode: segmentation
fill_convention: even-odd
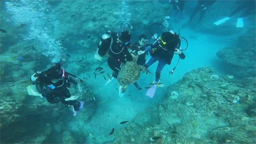
[[[227,71],[235,77],[255,77],[255,28],[238,38],[237,47],[221,49],[217,56],[226,63]]]

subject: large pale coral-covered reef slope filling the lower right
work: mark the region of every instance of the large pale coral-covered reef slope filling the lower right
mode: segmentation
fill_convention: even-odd
[[[167,88],[161,104],[119,130],[113,143],[255,143],[255,115],[245,112],[255,111],[255,79],[242,80],[246,87],[234,79],[211,68],[186,73]]]

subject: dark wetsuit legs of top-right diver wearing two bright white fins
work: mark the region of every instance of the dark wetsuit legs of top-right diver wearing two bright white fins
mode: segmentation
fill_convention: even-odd
[[[255,14],[256,1],[243,1],[243,3],[238,6],[232,13],[230,13],[229,17],[232,17],[234,14],[239,11],[244,10],[244,12],[239,16],[240,18],[249,16],[251,14]]]

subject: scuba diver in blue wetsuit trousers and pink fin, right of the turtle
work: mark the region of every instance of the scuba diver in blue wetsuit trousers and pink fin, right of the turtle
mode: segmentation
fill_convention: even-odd
[[[177,35],[176,33],[170,30],[170,31],[163,32],[162,36],[156,39],[155,42],[149,45],[144,51],[138,52],[138,54],[141,55],[150,51],[151,58],[144,65],[146,68],[150,67],[156,61],[158,61],[158,65],[156,69],[156,78],[153,82],[154,85],[148,89],[146,93],[147,96],[153,98],[153,96],[155,95],[156,87],[160,81],[161,72],[164,69],[166,64],[167,65],[171,64],[174,54],[179,55],[181,59],[185,59],[186,56],[180,50],[180,45],[181,45],[181,41],[180,41],[179,35]]]

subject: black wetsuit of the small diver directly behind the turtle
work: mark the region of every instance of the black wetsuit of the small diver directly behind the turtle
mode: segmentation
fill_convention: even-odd
[[[144,45],[144,46],[141,46],[140,43],[136,42],[134,43],[134,45],[131,47],[132,51],[135,50],[135,55],[138,54],[138,51],[144,51],[146,49],[148,45]],[[141,54],[138,56],[138,60],[137,60],[137,64],[138,65],[144,65],[146,63],[146,53],[144,54]]]

